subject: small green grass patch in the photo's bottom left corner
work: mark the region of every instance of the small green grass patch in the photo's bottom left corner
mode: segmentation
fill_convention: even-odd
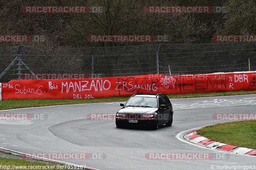
[[[16,167],[16,168],[14,168],[15,170],[23,170],[23,169],[25,169],[24,166],[27,166],[28,169],[32,170],[32,168],[29,168],[30,166],[47,166],[48,164],[44,164],[44,163],[40,163],[40,162],[29,162],[27,160],[21,160],[21,159],[2,158],[2,157],[0,157],[0,166],[5,166],[5,167],[0,168],[0,169],[7,170],[7,166],[10,166],[9,168],[11,169],[12,165],[23,166],[23,167]],[[61,169],[61,168],[57,169],[57,165],[56,164],[50,164],[49,166],[55,166],[54,169],[56,169],[56,170]],[[42,169],[43,169],[43,167],[42,168],[38,168],[38,170],[42,170]],[[37,169],[35,168],[33,170],[37,170]]]

